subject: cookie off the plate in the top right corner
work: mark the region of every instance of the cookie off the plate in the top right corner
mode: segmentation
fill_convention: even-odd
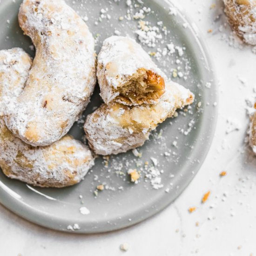
[[[256,0],[224,0],[225,13],[236,34],[256,45]]]

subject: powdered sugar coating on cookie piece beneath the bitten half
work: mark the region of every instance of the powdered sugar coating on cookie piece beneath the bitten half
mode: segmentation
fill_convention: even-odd
[[[166,84],[165,93],[156,105],[133,107],[136,111],[135,121],[140,123],[140,118],[143,118],[145,111],[148,111],[149,108],[154,113],[159,113],[162,122],[169,116],[174,115],[176,109],[191,104],[193,98],[194,95],[188,89],[169,81]],[[102,105],[93,114],[88,115],[84,125],[89,145],[99,155],[119,154],[141,146],[148,139],[149,132],[155,129],[155,126],[151,128],[154,119],[148,120],[145,129],[139,133],[134,133],[132,128],[123,128],[121,123],[111,116],[112,108],[114,108],[112,105],[109,107]],[[120,109],[119,116],[122,117],[126,111],[129,110],[123,111],[123,109]],[[120,140],[122,142],[118,142]]]

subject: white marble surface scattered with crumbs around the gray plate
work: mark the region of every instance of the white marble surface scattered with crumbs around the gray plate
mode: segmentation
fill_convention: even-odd
[[[245,99],[256,87],[256,55],[251,47],[229,46],[229,26],[215,0],[179,0],[202,31],[219,81],[216,135],[201,170],[183,194],[160,214],[128,229],[101,235],[54,232],[29,223],[0,206],[1,256],[229,256],[256,255],[256,157],[244,138],[248,126]],[[209,29],[213,33],[208,33]],[[243,84],[240,79],[243,79]],[[227,119],[241,128],[226,133]],[[227,171],[220,178],[221,171]],[[211,190],[209,200],[202,195]],[[194,213],[188,208],[196,206]],[[199,222],[196,227],[195,222]],[[127,252],[119,249],[128,243]]]

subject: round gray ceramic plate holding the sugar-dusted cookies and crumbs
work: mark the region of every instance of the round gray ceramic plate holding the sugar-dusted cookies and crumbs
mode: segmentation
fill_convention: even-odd
[[[2,0],[0,3],[0,49],[23,47],[34,55],[29,47],[30,39],[22,34],[18,25],[20,2],[21,0]],[[133,6],[141,5],[141,0],[132,2]],[[68,231],[67,226],[73,226],[74,223],[77,223],[80,229],[73,232],[80,233],[120,229],[141,222],[164,209],[181,194],[199,170],[214,134],[217,114],[214,107],[216,85],[208,54],[193,22],[188,21],[177,9],[176,15],[168,14],[169,8],[173,7],[170,1],[143,2],[143,6],[154,10],[154,13],[146,14],[144,20],[148,20],[151,26],[155,26],[157,21],[162,21],[163,26],[169,31],[167,35],[161,32],[163,38],[156,47],[144,48],[148,52],[157,52],[158,47],[164,48],[170,42],[186,48],[183,56],[179,56],[176,50],[170,56],[160,57],[159,60],[155,57],[153,59],[168,76],[172,76],[172,68],[180,66],[180,71],[187,79],[176,77],[173,80],[195,93],[195,103],[191,110],[180,111],[177,118],[161,124],[150,140],[139,148],[141,158],[135,157],[132,152],[112,156],[108,161],[108,167],[102,158],[97,158],[93,170],[84,181],[73,187],[32,188],[25,183],[10,180],[0,173],[0,202],[8,209],[31,222],[51,229]],[[119,17],[125,16],[130,9],[125,0],[68,0],[67,3],[82,17],[88,17],[88,26],[97,38],[97,52],[102,40],[113,35],[115,30],[122,35],[129,34],[136,38],[138,20],[119,20]],[[102,21],[99,21],[101,9],[106,10],[106,7],[108,11],[102,15]],[[132,12],[136,12],[135,7]],[[106,17],[106,14],[110,16]],[[159,26],[161,27],[161,24]],[[179,64],[176,64],[179,62],[176,62],[177,59],[181,61]],[[200,109],[197,108],[199,101],[202,102]],[[83,118],[99,106],[100,102],[97,88]],[[184,135],[184,132],[188,134]],[[84,134],[81,123],[75,124],[70,134],[82,139]],[[176,146],[174,141],[177,142]],[[159,175],[162,185],[160,189],[153,189],[150,179],[145,179],[144,171],[138,184],[129,182],[126,174],[128,168],[139,169],[146,161],[151,165],[150,157],[158,160],[157,169],[162,170]],[[139,166],[140,164],[142,165]],[[95,197],[94,190],[101,183],[105,183],[106,189],[99,191]],[[83,198],[79,198],[79,195]],[[82,215],[79,210],[82,206],[87,207],[90,214]]]

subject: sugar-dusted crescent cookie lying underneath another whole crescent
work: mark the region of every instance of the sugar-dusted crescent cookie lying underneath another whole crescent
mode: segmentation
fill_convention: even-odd
[[[3,108],[23,90],[32,60],[20,48],[0,51],[0,167],[5,175],[40,187],[66,187],[81,181],[94,158],[87,146],[66,135],[47,147],[32,147],[15,137]]]

